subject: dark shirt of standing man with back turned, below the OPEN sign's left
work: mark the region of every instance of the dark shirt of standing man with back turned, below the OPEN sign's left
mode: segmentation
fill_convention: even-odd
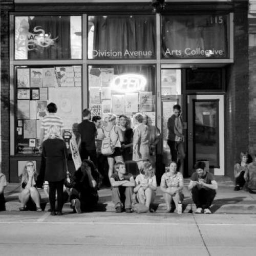
[[[81,135],[81,148],[96,150],[95,133],[97,129],[94,122],[83,120],[78,124],[78,132]]]

